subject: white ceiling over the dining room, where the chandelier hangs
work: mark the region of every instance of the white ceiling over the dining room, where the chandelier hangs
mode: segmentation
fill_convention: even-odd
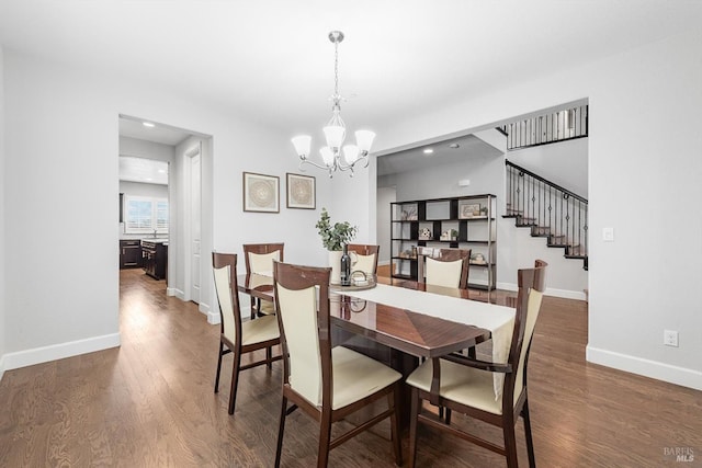
[[[186,93],[287,139],[330,116],[327,35],[341,30],[343,118],[350,129],[375,129],[382,146],[383,129],[400,118],[697,28],[701,19],[699,0],[2,0],[0,44],[5,56]],[[135,122],[122,130],[145,135]]]

